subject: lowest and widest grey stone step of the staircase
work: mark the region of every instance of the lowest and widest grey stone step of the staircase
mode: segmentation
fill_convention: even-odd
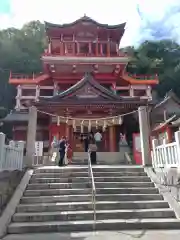
[[[179,229],[180,221],[174,218],[107,219],[96,221],[95,230]],[[92,231],[93,221],[24,222],[11,223],[8,233],[78,232]]]

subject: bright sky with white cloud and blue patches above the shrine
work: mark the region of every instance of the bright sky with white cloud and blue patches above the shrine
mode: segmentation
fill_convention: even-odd
[[[142,36],[150,38],[152,29],[148,28],[157,28],[158,24],[155,32],[164,34],[164,29],[160,29],[167,25],[163,17],[173,4],[178,3],[180,0],[0,0],[0,28],[19,28],[31,20],[66,23],[86,14],[101,23],[126,21],[127,29],[122,40],[124,46],[134,44]],[[137,6],[140,7],[141,17]],[[170,19],[174,24],[179,22],[179,17],[178,21],[174,17]]]

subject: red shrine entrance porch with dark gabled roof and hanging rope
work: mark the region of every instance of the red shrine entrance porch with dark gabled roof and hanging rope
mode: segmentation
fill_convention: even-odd
[[[53,136],[58,135],[58,139],[66,136],[74,152],[84,152],[84,139],[99,130],[101,152],[118,153],[121,135],[132,135],[129,129],[135,120],[131,113],[146,104],[147,100],[139,97],[118,96],[101,86],[91,74],[86,74],[68,90],[40,99],[35,106],[50,116],[50,143]]]

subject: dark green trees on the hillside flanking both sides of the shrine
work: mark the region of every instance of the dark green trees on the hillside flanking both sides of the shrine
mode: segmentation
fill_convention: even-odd
[[[40,57],[46,47],[44,24],[33,21],[22,29],[0,31],[0,106],[12,109],[15,89],[8,84],[10,70],[15,73],[41,72]],[[160,96],[173,89],[180,96],[180,46],[169,40],[144,42],[138,49],[123,49],[132,55],[127,70],[137,74],[158,73]]]

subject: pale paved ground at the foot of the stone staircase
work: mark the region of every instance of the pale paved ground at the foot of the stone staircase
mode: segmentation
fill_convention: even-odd
[[[116,232],[81,232],[81,233],[47,233],[29,235],[9,235],[3,240],[178,240],[180,230],[174,231],[116,231]]]

